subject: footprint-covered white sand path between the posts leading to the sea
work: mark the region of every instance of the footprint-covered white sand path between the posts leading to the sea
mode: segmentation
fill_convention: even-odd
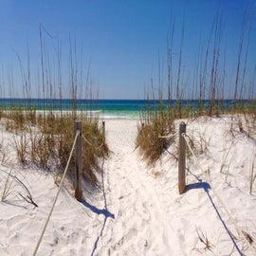
[[[106,126],[113,152],[104,163],[106,203],[115,219],[109,218],[95,254],[172,255],[178,243],[170,216],[158,200],[154,179],[135,152],[137,125],[121,123],[112,120],[110,128]]]

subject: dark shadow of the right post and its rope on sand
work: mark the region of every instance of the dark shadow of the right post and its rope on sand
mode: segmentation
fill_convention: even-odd
[[[187,170],[188,170],[188,169],[187,169]],[[188,172],[189,172],[190,174],[192,174],[192,172],[191,172],[190,170],[188,170]],[[228,229],[228,227],[227,227],[225,221],[223,220],[223,218],[222,218],[222,216],[221,216],[219,210],[217,209],[216,205],[214,204],[214,202],[213,202],[213,200],[212,200],[212,197],[211,197],[210,192],[209,192],[209,191],[210,191],[210,184],[209,184],[208,182],[203,182],[202,179],[198,178],[195,174],[192,174],[192,175],[197,179],[198,182],[192,183],[192,184],[189,184],[189,185],[186,185],[185,192],[189,192],[189,191],[191,191],[191,190],[196,190],[196,189],[203,189],[203,190],[207,193],[207,195],[208,195],[208,197],[209,197],[209,199],[210,199],[210,203],[211,203],[213,209],[216,211],[216,213],[217,213],[217,215],[218,215],[218,218],[220,219],[220,221],[221,221],[221,223],[222,223],[224,229],[226,229],[226,231],[227,231],[228,234],[229,234],[230,240],[232,241],[234,247],[237,249],[239,255],[242,255],[242,256],[243,256],[244,254],[242,253],[242,251],[240,250],[240,248],[239,248],[238,245],[236,244],[232,233],[229,231],[229,229]]]

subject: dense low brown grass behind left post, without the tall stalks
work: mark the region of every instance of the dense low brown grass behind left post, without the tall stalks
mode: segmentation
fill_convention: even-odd
[[[9,113],[6,128],[13,133],[14,150],[21,164],[33,163],[50,170],[52,166],[64,170],[75,138],[76,115],[55,116],[53,113],[38,115],[31,113]],[[18,117],[18,118],[16,118]],[[82,119],[82,163],[83,176],[92,185],[98,184],[97,172],[101,172],[100,157],[108,155],[102,129],[98,119]],[[70,164],[70,177],[74,170],[74,155]]]

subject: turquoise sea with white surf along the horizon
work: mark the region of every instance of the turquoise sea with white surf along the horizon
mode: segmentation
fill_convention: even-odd
[[[167,105],[167,101],[163,101]],[[189,106],[196,111],[198,101],[181,101],[183,105]],[[99,113],[102,119],[139,119],[139,112],[146,109],[147,106],[155,107],[158,101],[145,100],[58,100],[58,99],[0,99],[1,109],[27,109],[69,111],[76,106],[77,110],[93,111]],[[175,105],[176,101],[172,101]],[[210,101],[203,101],[207,108]],[[220,102],[221,108],[229,109],[233,101],[225,100]]]

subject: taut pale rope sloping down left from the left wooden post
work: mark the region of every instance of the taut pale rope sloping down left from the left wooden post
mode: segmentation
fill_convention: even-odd
[[[57,199],[58,199],[59,194],[60,194],[60,192],[61,192],[61,189],[62,189],[62,187],[63,187],[64,177],[65,177],[65,175],[66,175],[66,173],[67,173],[67,168],[68,168],[68,166],[69,166],[69,164],[70,164],[71,157],[72,157],[73,152],[74,152],[74,150],[75,150],[77,138],[78,138],[78,136],[80,135],[80,133],[81,133],[80,131],[77,131],[77,133],[76,133],[76,137],[75,137],[75,139],[74,139],[73,146],[72,146],[71,152],[70,152],[70,154],[69,154],[69,157],[68,157],[68,160],[67,160],[65,169],[64,169],[64,174],[63,174],[63,177],[62,177],[62,179],[61,179],[61,183],[60,183],[60,186],[59,186],[59,190],[58,190],[58,192],[57,192],[57,194],[56,194],[56,196],[55,196],[55,198],[54,198],[53,204],[52,204],[52,206],[51,206],[51,209],[50,209],[49,214],[48,214],[47,219],[46,219],[46,224],[45,224],[45,226],[44,226],[44,229],[42,230],[42,233],[41,233],[41,235],[40,235],[40,238],[39,238],[39,240],[38,240],[38,243],[37,243],[37,245],[36,245],[36,247],[35,247],[35,250],[34,250],[34,252],[33,252],[33,256],[36,255],[36,253],[37,253],[37,251],[38,251],[38,248],[39,248],[39,246],[40,246],[40,244],[41,244],[41,242],[42,242],[43,236],[44,236],[44,234],[45,234],[45,232],[46,232],[46,228],[47,228],[48,222],[49,222],[49,220],[50,220],[52,211],[53,211],[53,209],[54,209],[54,207],[55,207],[55,204],[56,204],[56,202],[57,202]]]

